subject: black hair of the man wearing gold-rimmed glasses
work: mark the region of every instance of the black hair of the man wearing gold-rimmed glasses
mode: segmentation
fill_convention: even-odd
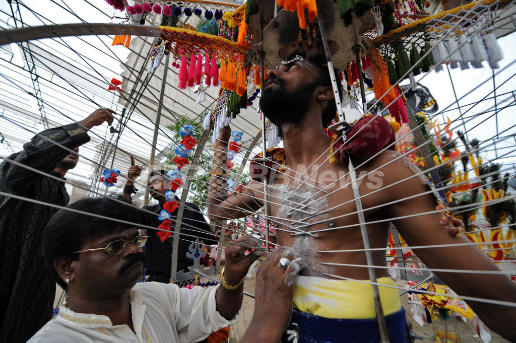
[[[68,287],[54,268],[55,260],[62,256],[79,259],[79,254],[74,252],[80,250],[83,239],[110,235],[115,232],[117,226],[132,226],[111,219],[128,221],[135,226],[142,223],[138,208],[107,197],[80,199],[68,205],[67,209],[57,211],[46,224],[43,232],[43,255],[48,268],[54,271],[56,282],[63,289],[67,290]]]

